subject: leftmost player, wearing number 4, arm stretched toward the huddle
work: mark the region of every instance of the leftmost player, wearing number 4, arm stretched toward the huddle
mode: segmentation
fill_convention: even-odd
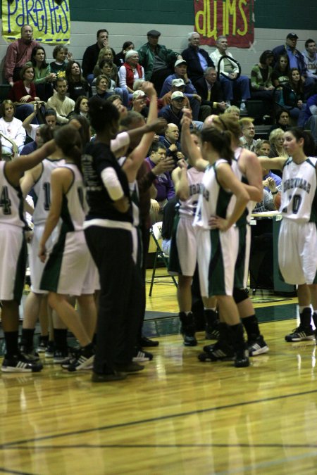
[[[54,151],[54,141],[44,144],[28,156],[0,162],[0,299],[2,328],[6,341],[3,372],[38,372],[42,364],[28,360],[18,350],[18,307],[23,292],[26,245],[23,196],[20,177]]]

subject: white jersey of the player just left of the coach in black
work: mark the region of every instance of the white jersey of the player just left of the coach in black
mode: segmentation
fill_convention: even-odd
[[[73,182],[66,195],[63,196],[61,232],[81,231],[84,229],[85,216],[88,211],[82,174],[73,163],[65,163],[61,167],[69,168],[73,172]]]

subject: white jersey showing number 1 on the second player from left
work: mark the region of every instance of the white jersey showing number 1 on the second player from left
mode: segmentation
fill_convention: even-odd
[[[42,161],[42,174],[33,186],[35,192],[35,210],[33,213],[33,223],[44,224],[51,207],[51,172],[65,163],[64,159]]]

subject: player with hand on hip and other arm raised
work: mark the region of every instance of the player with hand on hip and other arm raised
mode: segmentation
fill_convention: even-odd
[[[194,226],[197,227],[198,268],[202,296],[216,296],[220,314],[230,329],[235,349],[235,366],[249,366],[243,327],[232,298],[238,234],[235,222],[244,212],[249,194],[233,174],[230,162],[230,132],[213,127],[201,131],[200,151],[189,141],[189,118],[183,118],[182,140],[194,163],[208,160],[203,189],[199,196]],[[185,136],[184,136],[185,134]],[[228,213],[230,199],[235,195],[234,208]]]

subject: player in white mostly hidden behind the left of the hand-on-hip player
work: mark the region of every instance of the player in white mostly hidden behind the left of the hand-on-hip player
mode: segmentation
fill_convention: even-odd
[[[193,144],[199,147],[196,132],[192,132]],[[189,165],[191,161],[189,158]],[[178,273],[178,307],[181,333],[185,346],[196,346],[194,315],[192,313],[192,278],[197,266],[196,229],[193,227],[197,203],[202,186],[204,172],[195,167],[187,168],[185,160],[178,162],[173,170],[172,179],[175,192],[180,199],[180,207],[175,215],[173,234],[170,244],[168,270]],[[216,313],[216,298],[203,297],[206,335],[209,338],[218,336],[218,315]]]

